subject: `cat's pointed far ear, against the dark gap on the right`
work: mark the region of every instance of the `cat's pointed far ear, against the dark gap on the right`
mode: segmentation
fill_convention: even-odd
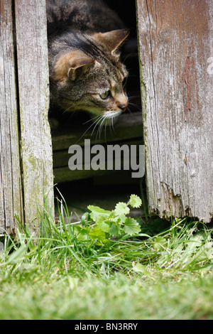
[[[113,53],[129,35],[129,29],[119,29],[107,33],[95,33],[94,38],[109,48]]]

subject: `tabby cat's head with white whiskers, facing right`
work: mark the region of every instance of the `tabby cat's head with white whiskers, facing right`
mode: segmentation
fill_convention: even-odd
[[[119,45],[128,35],[126,29],[91,35],[67,33],[55,42],[57,48],[65,46],[50,72],[51,94],[60,108],[85,110],[94,122],[104,124],[111,124],[124,112],[129,104],[125,92],[128,72],[121,63]]]

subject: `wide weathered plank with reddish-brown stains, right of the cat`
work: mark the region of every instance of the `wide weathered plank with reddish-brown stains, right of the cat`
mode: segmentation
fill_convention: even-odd
[[[213,216],[212,0],[137,0],[150,212]]]

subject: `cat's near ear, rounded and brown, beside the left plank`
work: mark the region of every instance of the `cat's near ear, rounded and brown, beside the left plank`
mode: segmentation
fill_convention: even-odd
[[[83,70],[86,72],[95,60],[85,55],[80,50],[71,51],[62,55],[55,65],[55,80],[66,80],[67,77],[74,81],[77,72]]]

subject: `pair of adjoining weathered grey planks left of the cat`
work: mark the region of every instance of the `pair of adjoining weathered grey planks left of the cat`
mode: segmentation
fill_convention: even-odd
[[[44,195],[53,201],[45,0],[1,0],[0,11],[0,227],[18,215],[34,231]]]

